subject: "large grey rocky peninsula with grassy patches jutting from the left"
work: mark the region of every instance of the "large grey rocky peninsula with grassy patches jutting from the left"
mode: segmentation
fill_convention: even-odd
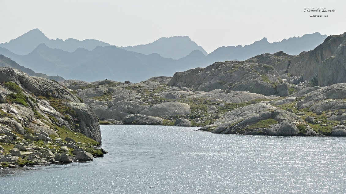
[[[0,169],[102,157],[97,115],[56,81],[0,67]]]

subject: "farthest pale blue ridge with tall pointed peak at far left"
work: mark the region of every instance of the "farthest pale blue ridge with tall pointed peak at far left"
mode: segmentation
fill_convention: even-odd
[[[73,52],[78,48],[85,48],[92,50],[97,46],[108,46],[110,44],[94,40],[85,39],[83,41],[69,38],[62,39],[49,39],[39,29],[30,30],[29,32],[21,35],[20,37],[10,40],[6,43],[1,43],[0,47],[6,48],[15,54],[26,55],[32,52],[39,44],[46,44],[50,48],[62,49],[64,51]]]

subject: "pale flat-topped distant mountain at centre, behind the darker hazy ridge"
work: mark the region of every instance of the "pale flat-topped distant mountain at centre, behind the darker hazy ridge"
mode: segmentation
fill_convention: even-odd
[[[134,51],[143,54],[158,53],[161,57],[180,59],[186,57],[194,50],[200,50],[204,55],[207,55],[201,46],[198,46],[188,36],[162,37],[149,44],[140,44],[136,46],[120,47],[128,51]]]

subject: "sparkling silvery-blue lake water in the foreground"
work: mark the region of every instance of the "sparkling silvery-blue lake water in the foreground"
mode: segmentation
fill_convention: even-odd
[[[103,125],[92,162],[0,171],[0,193],[345,193],[346,138]]]

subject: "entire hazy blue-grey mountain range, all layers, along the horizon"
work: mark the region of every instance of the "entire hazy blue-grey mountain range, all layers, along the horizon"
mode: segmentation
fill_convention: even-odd
[[[220,47],[207,54],[189,37],[163,37],[149,44],[116,47],[90,39],[51,40],[34,29],[0,44],[0,54],[33,71],[58,74],[65,79],[139,82],[217,61],[246,60],[262,53],[284,51],[296,55],[315,48],[326,37],[316,32],[273,43],[263,38],[250,45]]]

